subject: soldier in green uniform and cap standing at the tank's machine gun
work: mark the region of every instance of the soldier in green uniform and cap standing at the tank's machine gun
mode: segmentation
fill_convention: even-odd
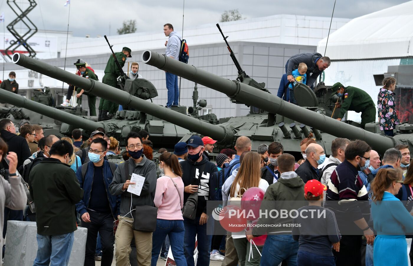
[[[125,65],[127,57],[131,56],[131,49],[127,47],[122,48],[122,52],[115,53],[116,58],[119,61],[121,67]],[[102,82],[114,88],[119,88],[116,79],[121,75],[121,71],[117,66],[113,55],[110,55],[109,60],[107,61],[106,68],[104,69],[104,76]],[[109,116],[107,114],[114,114],[118,110],[119,105],[111,102],[109,100],[100,99],[99,103],[99,116],[97,121],[108,120]]]

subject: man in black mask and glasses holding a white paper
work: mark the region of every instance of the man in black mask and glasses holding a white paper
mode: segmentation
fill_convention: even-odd
[[[142,138],[138,133],[131,132],[126,137],[126,150],[131,158],[125,163],[119,164],[114,173],[113,181],[109,185],[109,191],[112,195],[121,196],[120,216],[118,216],[119,225],[115,235],[116,265],[130,264],[131,240],[135,237],[138,264],[150,266],[152,232],[133,230],[133,221],[136,217],[148,219],[145,214],[135,216],[134,209],[137,206],[155,206],[153,199],[157,182],[156,166],[153,161],[147,159],[143,154]],[[129,185],[135,184],[135,182],[131,182],[131,175],[133,174],[145,178],[139,196],[127,191]],[[153,222],[156,223],[156,219]]]

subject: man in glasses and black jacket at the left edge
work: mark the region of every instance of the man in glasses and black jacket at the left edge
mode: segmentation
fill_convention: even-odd
[[[0,135],[9,146],[9,151],[16,152],[18,159],[17,168],[19,168],[23,165],[24,160],[31,155],[26,139],[16,135],[16,126],[10,119],[2,119],[0,121]],[[3,164],[3,166],[7,168],[7,164]]]

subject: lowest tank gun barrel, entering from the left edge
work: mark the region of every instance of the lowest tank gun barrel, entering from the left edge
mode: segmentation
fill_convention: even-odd
[[[45,104],[41,104],[39,102],[28,100],[21,95],[12,93],[7,90],[0,90],[0,98],[2,99],[2,101],[7,102],[9,104],[26,108],[33,112],[38,112],[39,114],[43,114],[44,116],[56,119],[58,121],[62,121],[64,123],[69,123],[73,126],[88,131],[94,131],[98,127],[103,127],[102,123],[89,121],[88,119],[84,119],[83,117],[66,113],[64,111],[55,109]]]

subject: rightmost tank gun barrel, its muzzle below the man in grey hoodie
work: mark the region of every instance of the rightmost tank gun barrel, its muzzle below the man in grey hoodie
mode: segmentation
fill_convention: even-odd
[[[396,145],[394,138],[371,133],[362,128],[337,121],[323,114],[299,107],[290,102],[285,102],[276,95],[258,90],[238,81],[222,78],[151,50],[146,50],[142,53],[142,61],[145,64],[155,66],[211,89],[218,90],[230,98],[254,107],[259,107],[271,114],[280,114],[339,138],[364,140],[379,152],[385,152],[385,150]]]

